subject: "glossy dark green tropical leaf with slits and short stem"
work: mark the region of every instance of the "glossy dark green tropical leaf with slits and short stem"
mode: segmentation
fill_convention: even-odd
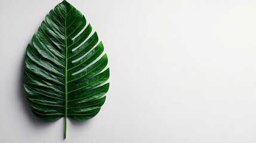
[[[37,117],[88,120],[109,89],[107,55],[84,15],[63,1],[46,15],[27,46],[24,88]]]

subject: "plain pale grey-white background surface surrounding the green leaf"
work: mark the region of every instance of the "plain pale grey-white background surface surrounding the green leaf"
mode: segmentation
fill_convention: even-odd
[[[1,143],[255,143],[255,0],[69,0],[109,57],[86,122],[44,122],[22,87],[24,53],[61,1],[0,0]]]

